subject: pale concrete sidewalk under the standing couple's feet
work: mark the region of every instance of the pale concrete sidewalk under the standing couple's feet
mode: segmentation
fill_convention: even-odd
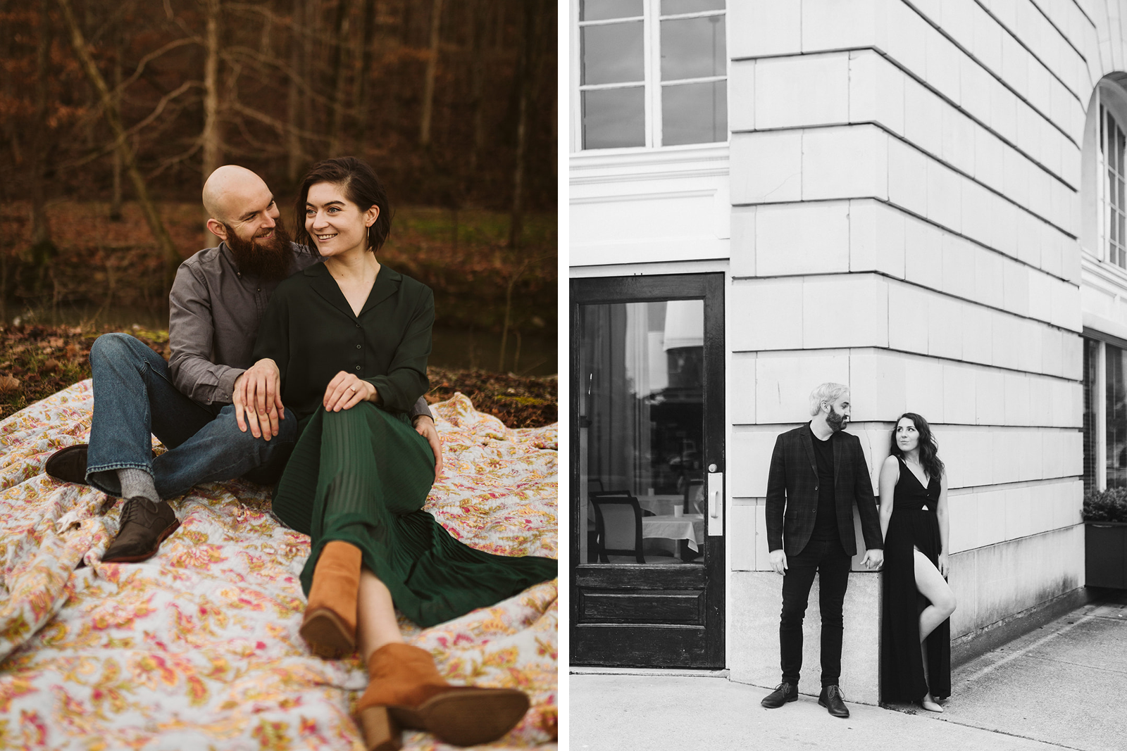
[[[941,715],[849,703],[850,718],[837,719],[809,696],[764,709],[760,699],[773,687],[713,677],[579,673],[569,687],[574,751],[1119,751],[1127,748],[1127,592],[959,667]],[[849,683],[842,688],[848,700]]]

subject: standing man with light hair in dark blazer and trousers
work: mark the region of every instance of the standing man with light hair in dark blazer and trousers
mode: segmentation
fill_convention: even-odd
[[[818,704],[835,717],[849,717],[840,680],[842,606],[850,561],[857,553],[853,507],[864,537],[862,565],[884,562],[880,520],[869,465],[849,422],[849,386],[824,383],[810,392],[811,420],[779,436],[767,474],[766,527],[771,569],[782,574],[779,623],[782,682],[763,698],[769,709],[798,699],[802,668],[802,618],[818,574],[822,613],[822,692]]]

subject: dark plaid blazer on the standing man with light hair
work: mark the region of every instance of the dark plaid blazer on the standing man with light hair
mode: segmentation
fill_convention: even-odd
[[[841,432],[834,438],[834,495],[837,533],[842,547],[857,554],[853,504],[861,515],[861,536],[867,549],[881,549],[880,519],[872,498],[869,465],[858,437]],[[787,555],[802,552],[814,531],[818,511],[818,467],[814,458],[810,423],[788,430],[775,439],[767,473],[767,549],[782,548]]]

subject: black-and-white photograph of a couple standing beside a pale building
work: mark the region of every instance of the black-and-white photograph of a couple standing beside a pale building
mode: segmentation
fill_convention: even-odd
[[[569,748],[1120,748],[1127,3],[566,5]]]

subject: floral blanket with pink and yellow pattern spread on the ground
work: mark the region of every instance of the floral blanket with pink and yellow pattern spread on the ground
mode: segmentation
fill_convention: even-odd
[[[0,748],[362,749],[366,674],[298,635],[309,538],[270,517],[267,489],[199,485],[171,501],[181,526],[156,557],[100,562],[122,502],[42,472],[87,439],[92,402],[85,381],[0,422]],[[557,427],[509,430],[461,394],[432,410],[446,471],[427,510],[476,547],[557,557]],[[451,682],[530,695],[485,748],[554,745],[557,583],[435,628],[400,620]]]

